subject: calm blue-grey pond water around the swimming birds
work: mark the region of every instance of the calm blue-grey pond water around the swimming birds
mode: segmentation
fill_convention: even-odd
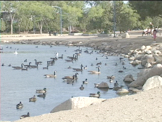
[[[123,78],[127,74],[132,74],[136,78],[138,69],[132,67],[127,59],[125,60],[125,67],[120,63],[117,56],[103,56],[99,54],[99,51],[93,51],[92,54],[85,53],[88,49],[91,52],[93,49],[89,47],[80,47],[82,49],[81,55],[78,60],[72,62],[66,62],[67,56],[73,56],[76,49],[79,47],[67,47],[67,46],[47,46],[39,45],[17,45],[7,44],[1,45],[3,47],[3,53],[1,53],[1,120],[2,121],[15,121],[20,118],[21,115],[30,113],[30,116],[38,116],[41,114],[49,113],[54,107],[60,103],[68,100],[69,98],[84,96],[88,97],[90,93],[101,92],[101,98],[115,98],[119,97],[113,90],[99,90],[94,87],[94,83],[107,82],[110,86],[114,83],[110,83],[107,76],[114,75],[115,81],[118,81],[120,85],[124,85]],[[14,50],[18,49],[18,54],[14,54]],[[55,61],[53,66],[49,66],[48,69],[43,69],[47,66],[47,61],[50,61],[52,57],[58,52],[59,57],[63,54],[63,59]],[[96,60],[96,58],[98,60]],[[27,62],[24,60],[27,59]],[[34,59],[42,61],[42,64],[37,68],[25,70],[14,70],[12,66],[20,66],[21,63],[35,65]],[[96,64],[102,62],[100,65],[101,74],[89,74],[89,70],[97,70]],[[93,66],[91,64],[93,63]],[[105,65],[105,63],[107,65]],[[118,65],[115,66],[115,63]],[[9,67],[8,65],[12,66]],[[72,76],[76,72],[72,68],[80,68],[80,65],[87,65],[87,69],[83,72],[78,72],[78,80],[74,84],[67,84],[62,80],[64,76]],[[123,73],[119,73],[119,70],[123,70]],[[45,78],[44,74],[53,74],[56,71],[56,78]],[[84,85],[84,90],[80,90],[79,87],[82,81],[87,79],[88,84]],[[126,87],[126,86],[125,86]],[[36,94],[37,89],[47,88],[46,97],[37,97],[36,102],[29,102],[29,98]],[[21,110],[16,109],[16,104],[22,102],[24,107]]]

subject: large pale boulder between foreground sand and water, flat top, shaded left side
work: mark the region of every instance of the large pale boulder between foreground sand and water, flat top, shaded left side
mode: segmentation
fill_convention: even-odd
[[[50,113],[63,111],[63,110],[71,110],[71,109],[88,107],[92,104],[101,103],[104,100],[105,99],[98,99],[98,98],[93,98],[93,97],[74,97],[56,106]]]

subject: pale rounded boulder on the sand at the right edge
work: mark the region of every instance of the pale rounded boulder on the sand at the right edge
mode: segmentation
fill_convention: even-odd
[[[158,86],[162,85],[162,77],[160,76],[153,76],[151,78],[149,78],[146,83],[143,85],[143,90],[149,90]]]

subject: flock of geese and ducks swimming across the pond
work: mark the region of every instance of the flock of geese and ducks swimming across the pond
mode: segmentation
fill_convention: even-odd
[[[38,48],[38,46],[36,48]],[[43,69],[47,69],[48,70],[49,66],[53,66],[55,64],[55,62],[57,60],[59,60],[59,59],[62,59],[62,60],[64,59],[65,62],[75,63],[75,61],[79,59],[79,56],[83,52],[84,53],[87,53],[87,54],[90,54],[90,55],[95,52],[95,53],[98,53],[98,54],[102,54],[102,57],[106,57],[106,59],[109,59],[108,58],[108,56],[109,56],[108,53],[102,52],[101,50],[100,51],[96,51],[96,50],[89,51],[88,49],[86,49],[85,51],[82,51],[82,49],[80,49],[80,47],[79,47],[78,49],[76,49],[74,51],[75,51],[75,53],[72,56],[67,56],[67,59],[64,59],[63,54],[59,57],[59,53],[57,52],[55,54],[55,57],[50,58],[50,60],[46,62],[46,67],[43,67]],[[16,54],[16,55],[18,54],[17,49],[15,50],[14,54]],[[98,61],[99,58],[98,57],[97,58],[95,57],[94,60],[97,60]],[[125,70],[126,67],[124,66],[125,65],[124,58],[121,58],[120,57],[119,60],[120,60],[120,64],[114,62],[114,66],[123,65],[123,70]],[[28,71],[31,68],[38,68],[39,65],[41,65],[43,63],[42,61],[37,61],[37,59],[34,59],[34,61],[35,61],[35,64],[34,65],[32,65],[32,62],[28,62],[28,64],[25,64],[27,61],[28,61],[28,59],[25,59],[24,62],[21,63],[20,66],[12,66],[12,69],[14,69],[14,70],[26,70],[26,71]],[[95,66],[97,70],[87,70],[88,69],[88,66],[87,65],[84,66],[83,64],[80,65],[80,68],[73,68],[73,67],[69,66],[68,69],[72,69],[73,72],[75,72],[75,73],[72,76],[64,76],[64,77],[62,77],[62,80],[64,82],[66,82],[67,84],[72,84],[73,85],[75,83],[75,81],[78,80],[79,72],[87,71],[87,73],[89,73],[89,74],[100,75],[101,74],[101,71],[100,71],[101,65],[105,65],[106,66],[107,63],[103,64],[102,61],[99,61],[98,63],[94,64],[94,61],[92,61],[92,63],[90,64],[90,66]],[[5,66],[5,64],[2,63],[1,66]],[[11,66],[11,64],[9,64],[8,66]],[[123,70],[119,70],[118,72],[123,72]],[[44,74],[44,77],[45,78],[57,78],[56,73],[57,73],[57,71],[54,71],[53,74],[52,73],[51,74]],[[114,75],[107,76],[107,79],[109,80],[109,83],[113,83],[115,81],[115,76]],[[79,87],[79,89],[80,90],[84,90],[84,85],[87,85],[87,84],[88,84],[88,80],[87,80],[87,78],[85,78],[85,80],[82,81],[81,86]],[[97,84],[94,84],[94,86],[97,87]],[[109,88],[109,89],[113,89],[113,90],[117,91],[117,90],[121,89],[122,87],[123,86],[122,85],[119,85],[118,81],[116,81],[114,83],[114,87],[113,88]],[[40,90],[36,90],[36,93],[39,93],[37,95],[37,97],[45,98],[46,92],[47,92],[47,89],[46,88],[40,89]],[[29,102],[36,102],[37,101],[37,97],[36,97],[36,95],[34,95],[33,97],[29,98]],[[90,93],[89,94],[89,97],[99,98],[100,97],[100,91],[98,91],[97,93]],[[23,108],[23,103],[20,101],[16,105],[16,109],[22,109],[22,108]],[[29,117],[29,116],[30,116],[30,114],[28,112],[26,115],[22,115],[20,117],[20,119],[25,118],[25,117]]]

